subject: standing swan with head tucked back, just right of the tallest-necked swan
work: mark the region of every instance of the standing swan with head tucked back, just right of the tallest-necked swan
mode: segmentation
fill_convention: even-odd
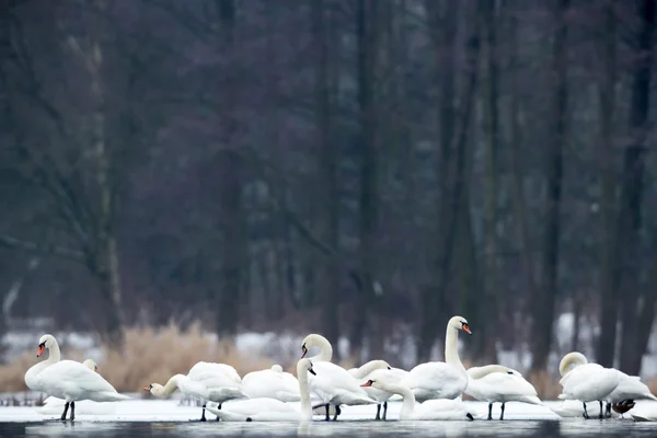
[[[493,403],[502,403],[499,419],[504,419],[504,407],[507,402],[543,404],[534,387],[525,380],[520,372],[502,365],[470,368],[465,393],[476,400],[488,402],[488,419],[493,419]]]

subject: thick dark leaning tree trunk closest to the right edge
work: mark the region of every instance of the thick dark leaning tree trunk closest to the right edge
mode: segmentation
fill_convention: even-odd
[[[639,19],[642,21],[637,41],[637,59],[632,79],[632,103],[630,108],[631,145],[627,146],[623,159],[623,186],[621,191],[621,218],[619,235],[623,242],[622,251],[622,343],[621,369],[630,374],[638,374],[644,354],[636,343],[638,336],[637,312],[641,311],[638,297],[638,275],[641,258],[638,256],[639,231],[642,228],[642,198],[644,192],[644,166],[646,152],[646,134],[650,102],[650,74],[653,66],[653,46],[655,35],[655,0],[642,0]],[[650,291],[650,293],[655,293]],[[653,309],[647,309],[653,311]]]

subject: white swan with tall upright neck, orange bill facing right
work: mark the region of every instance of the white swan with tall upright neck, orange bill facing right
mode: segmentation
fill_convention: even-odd
[[[457,399],[468,388],[468,372],[459,358],[459,331],[472,334],[463,316],[453,316],[447,323],[445,362],[426,362],[413,368],[402,384],[413,391],[418,402],[435,399]]]

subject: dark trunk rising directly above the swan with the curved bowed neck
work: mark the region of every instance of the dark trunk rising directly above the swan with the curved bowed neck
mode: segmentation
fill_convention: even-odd
[[[327,11],[324,0],[312,3],[312,20],[314,26],[315,47],[318,48],[319,62],[316,65],[315,95],[316,95],[316,124],[320,153],[318,168],[320,169],[318,200],[321,206],[319,217],[319,238],[331,247],[337,247],[338,233],[338,194],[337,194],[337,150],[333,139],[332,116],[332,88],[328,78],[328,42],[327,42]],[[335,257],[321,256],[322,266],[318,275],[316,288],[320,291],[322,304],[322,330],[326,338],[337,345],[339,338],[338,314],[341,300],[341,284]],[[337,349],[336,349],[337,353]],[[336,357],[339,359],[339,357]]]

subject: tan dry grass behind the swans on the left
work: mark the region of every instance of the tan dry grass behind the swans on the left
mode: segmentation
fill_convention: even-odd
[[[62,357],[83,360],[82,351],[65,350]],[[0,392],[25,391],[25,371],[36,364],[35,351],[0,367]],[[164,384],[176,373],[187,373],[194,364],[205,360],[235,367],[240,376],[272,366],[272,360],[240,354],[232,342],[215,342],[204,334],[200,324],[186,331],[175,325],[164,328],[129,328],[125,332],[124,351],[104,348],[97,361],[99,372],[119,392],[136,392],[149,383]]]

